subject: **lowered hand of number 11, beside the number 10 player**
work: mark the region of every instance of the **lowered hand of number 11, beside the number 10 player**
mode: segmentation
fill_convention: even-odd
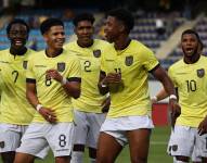
[[[169,110],[171,112],[171,114],[170,114],[170,116],[171,116],[171,126],[172,126],[172,128],[174,128],[177,117],[179,117],[180,114],[181,114],[181,108],[178,104],[177,100],[174,100],[174,99],[169,100]]]

